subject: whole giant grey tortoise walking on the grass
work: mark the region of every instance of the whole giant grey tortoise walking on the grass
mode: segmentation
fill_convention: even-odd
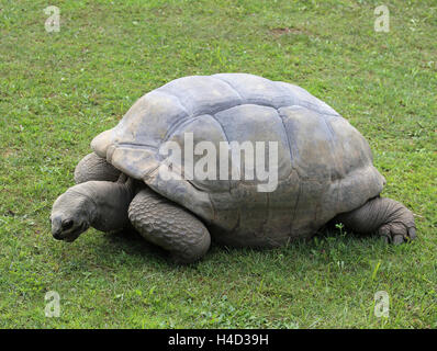
[[[188,181],[171,170],[164,177],[160,146],[175,141],[183,150],[187,133],[194,145],[209,140],[216,150],[221,141],[277,141],[278,188],[266,193],[256,181]],[[362,135],[290,83],[246,73],[180,78],[138,99],[91,148],[76,168],[78,184],[54,204],[57,239],[72,241],[90,226],[113,231],[132,225],[175,261],[189,263],[206,253],[211,239],[278,247],[311,238],[332,220],[393,244],[416,237],[412,212],[380,197],[385,179]]]

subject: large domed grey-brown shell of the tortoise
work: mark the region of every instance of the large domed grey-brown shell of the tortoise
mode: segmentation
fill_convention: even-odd
[[[259,191],[261,181],[245,177],[244,160],[239,179],[187,177],[184,136],[190,134],[194,145],[211,141],[217,150],[222,141],[277,141],[277,186]],[[182,150],[179,176],[171,179],[158,171],[166,141]],[[279,246],[309,237],[385,184],[367,140],[330,106],[300,87],[246,73],[170,81],[138,99],[91,147],[234,246]],[[266,149],[266,159],[269,155]],[[194,162],[201,158],[193,156]]]

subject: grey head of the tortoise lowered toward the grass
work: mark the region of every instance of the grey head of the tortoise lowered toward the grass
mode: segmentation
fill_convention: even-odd
[[[54,203],[51,215],[52,235],[57,240],[75,241],[90,227],[92,201],[69,189]]]

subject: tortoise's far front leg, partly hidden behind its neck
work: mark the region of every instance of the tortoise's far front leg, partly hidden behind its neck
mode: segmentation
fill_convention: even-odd
[[[91,152],[83,157],[75,169],[76,184],[85,183],[90,180],[104,180],[115,182],[120,177],[120,171],[108,163],[96,152]]]

